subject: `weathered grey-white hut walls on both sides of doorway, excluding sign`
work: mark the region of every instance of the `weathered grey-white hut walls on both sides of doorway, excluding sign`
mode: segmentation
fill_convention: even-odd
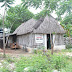
[[[43,35],[43,43],[36,43],[35,35]],[[25,35],[20,35],[20,36],[17,36],[17,43],[19,45],[26,45],[31,48],[44,46],[45,49],[47,49],[47,34],[29,33],[29,34],[25,34]],[[61,35],[60,34],[53,35],[53,43],[54,43],[54,50],[65,49],[62,34]]]

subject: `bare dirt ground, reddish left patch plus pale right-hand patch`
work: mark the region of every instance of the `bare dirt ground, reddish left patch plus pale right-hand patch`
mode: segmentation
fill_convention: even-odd
[[[31,55],[33,55],[31,53],[25,52],[23,49],[11,49],[11,48],[6,48],[5,53],[6,53],[6,55],[10,55],[12,57],[31,56]],[[55,53],[61,53],[63,55],[72,57],[72,52],[55,51]],[[3,55],[3,49],[1,49],[1,48],[0,48],[0,54]]]

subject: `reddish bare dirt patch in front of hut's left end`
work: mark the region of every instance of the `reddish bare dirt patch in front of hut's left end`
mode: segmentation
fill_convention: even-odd
[[[23,49],[5,49],[6,55],[11,55],[12,57],[19,57],[19,56],[30,56],[32,54],[25,52]],[[3,49],[0,49],[0,54],[3,54]]]

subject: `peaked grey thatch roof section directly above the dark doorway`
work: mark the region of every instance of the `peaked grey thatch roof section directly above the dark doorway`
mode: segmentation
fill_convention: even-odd
[[[34,33],[65,33],[62,26],[52,16],[46,16],[42,24],[34,29]]]

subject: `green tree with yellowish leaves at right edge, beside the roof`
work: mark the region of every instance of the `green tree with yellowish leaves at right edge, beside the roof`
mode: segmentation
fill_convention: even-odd
[[[61,21],[61,25],[66,30],[66,36],[72,36],[72,14],[65,16],[65,18]]]

